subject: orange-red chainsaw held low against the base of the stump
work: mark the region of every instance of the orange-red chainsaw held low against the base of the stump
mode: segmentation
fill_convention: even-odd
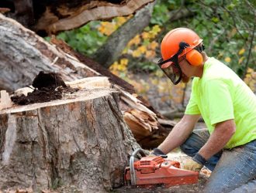
[[[140,152],[139,161],[134,157]],[[178,161],[166,159],[167,155],[146,156],[142,149],[133,151],[130,157],[130,167],[125,170],[126,185],[164,185],[166,188],[174,185],[189,185],[198,182],[199,172],[183,170]]]

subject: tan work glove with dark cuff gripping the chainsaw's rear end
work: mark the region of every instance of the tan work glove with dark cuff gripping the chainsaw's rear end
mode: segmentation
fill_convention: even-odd
[[[197,153],[195,154],[194,157],[190,158],[188,161],[185,161],[182,168],[185,170],[199,172],[205,163],[206,163],[206,159],[202,157],[202,155]]]

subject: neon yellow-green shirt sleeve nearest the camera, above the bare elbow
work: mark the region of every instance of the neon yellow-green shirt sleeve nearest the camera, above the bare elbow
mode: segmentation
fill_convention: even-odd
[[[217,123],[234,119],[233,100],[228,84],[221,80],[209,80],[204,93],[209,104],[210,124],[215,127]]]

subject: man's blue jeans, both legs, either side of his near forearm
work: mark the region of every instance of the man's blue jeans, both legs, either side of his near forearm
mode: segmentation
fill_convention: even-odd
[[[208,138],[208,130],[195,130],[181,149],[193,157]],[[205,166],[213,172],[203,192],[256,192],[255,140],[213,155]]]

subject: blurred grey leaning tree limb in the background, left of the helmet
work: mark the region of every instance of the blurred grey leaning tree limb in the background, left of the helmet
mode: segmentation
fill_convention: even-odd
[[[123,49],[134,36],[144,30],[150,22],[155,2],[141,8],[132,19],[109,36],[106,43],[95,52],[93,59],[102,66],[109,66],[118,59]]]

